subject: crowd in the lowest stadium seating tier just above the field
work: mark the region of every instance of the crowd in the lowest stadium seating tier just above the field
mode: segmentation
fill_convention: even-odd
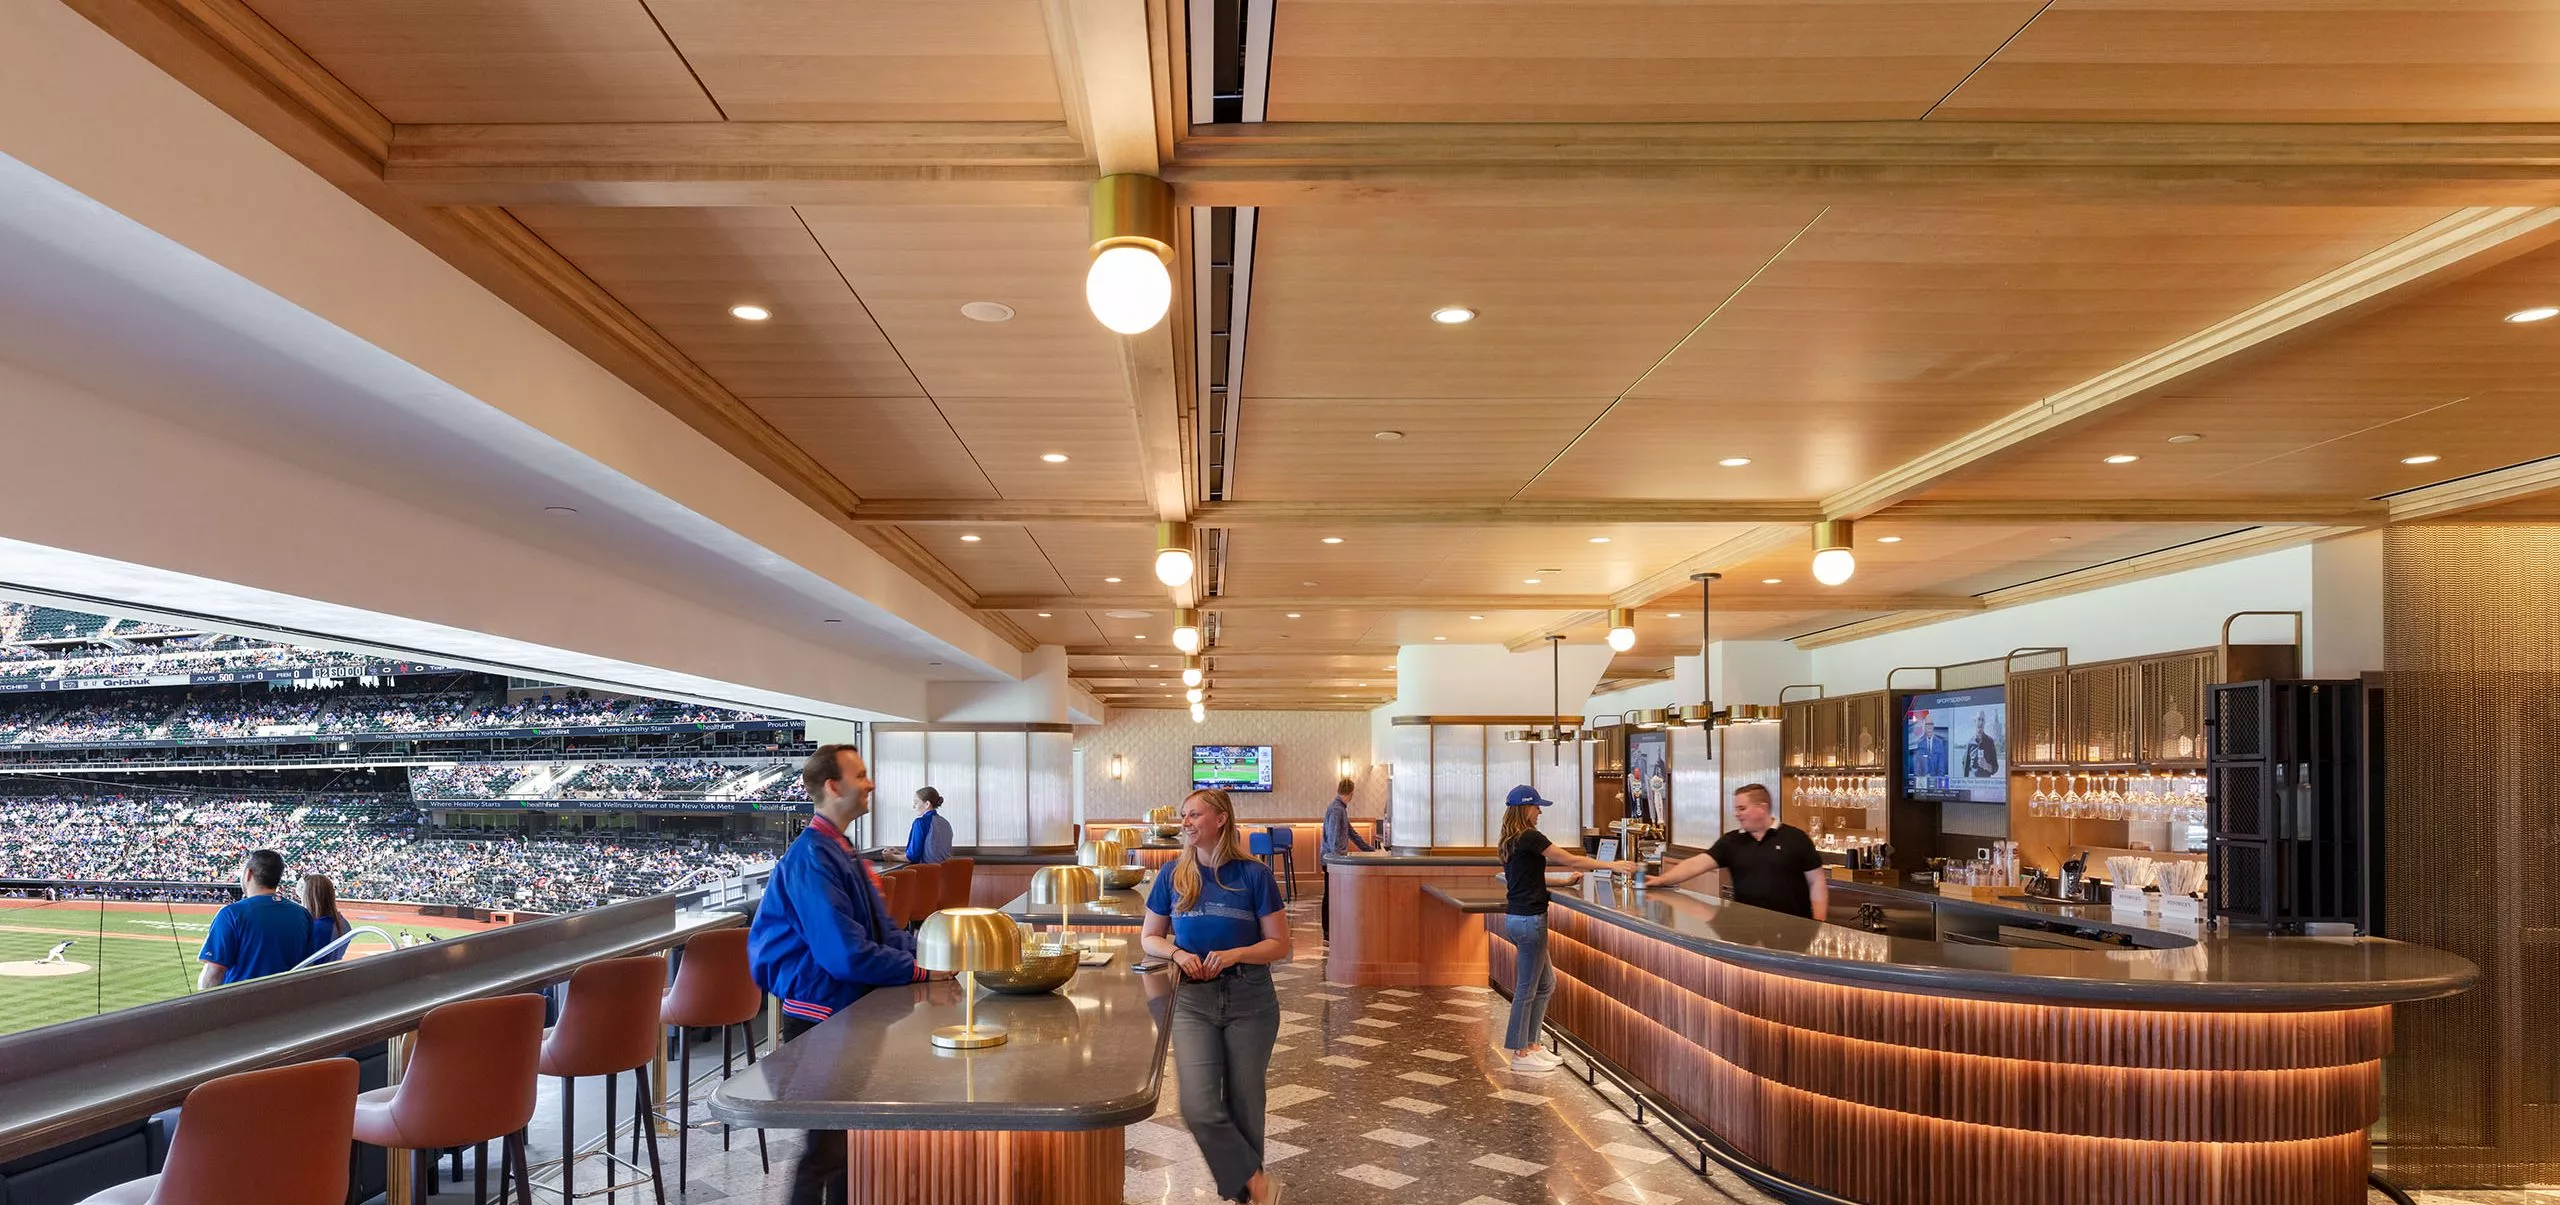
[[[781,849],[637,831],[438,837],[394,796],[0,796],[0,878],[225,883],[248,849],[343,898],[579,911],[684,890]]]

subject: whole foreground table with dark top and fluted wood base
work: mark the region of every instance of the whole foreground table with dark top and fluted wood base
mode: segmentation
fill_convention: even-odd
[[[929,1041],[963,1016],[957,982],[881,988],[712,1092],[732,1126],[847,1131],[847,1205],[1116,1205],[1124,1128],[1165,1082],[1172,980],[1129,957],[1052,995],[978,995],[1009,1039]]]

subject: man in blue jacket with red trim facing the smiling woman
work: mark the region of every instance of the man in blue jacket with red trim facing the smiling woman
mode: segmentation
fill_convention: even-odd
[[[791,842],[748,929],[755,985],[783,1003],[783,1041],[873,988],[924,982],[916,941],[888,921],[881,883],[852,852],[852,821],[870,811],[870,770],[852,744],[822,744],[801,765],[817,814]],[[791,1205],[845,1200],[845,1133],[812,1131],[791,1169]]]

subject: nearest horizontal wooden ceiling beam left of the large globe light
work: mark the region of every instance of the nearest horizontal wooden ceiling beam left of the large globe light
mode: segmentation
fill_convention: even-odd
[[[381,179],[420,205],[1085,205],[1055,120],[394,125]]]

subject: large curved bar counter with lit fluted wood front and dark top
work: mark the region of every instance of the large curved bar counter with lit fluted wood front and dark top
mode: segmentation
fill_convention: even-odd
[[[1500,888],[1434,898],[1487,913],[1508,990]],[[2150,949],[1935,941],[1585,880],[1549,908],[1546,1021],[1759,1169],[1869,1205],[2360,1205],[2391,1005],[2478,967],[2132,936]]]

